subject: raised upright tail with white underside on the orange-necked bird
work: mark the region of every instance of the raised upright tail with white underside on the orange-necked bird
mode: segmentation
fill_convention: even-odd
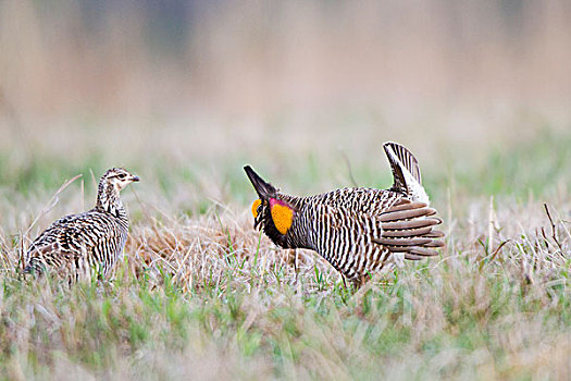
[[[387,142],[383,145],[393,170],[393,189],[401,192],[412,200],[429,204],[429,196],[422,186],[417,158],[404,146]]]

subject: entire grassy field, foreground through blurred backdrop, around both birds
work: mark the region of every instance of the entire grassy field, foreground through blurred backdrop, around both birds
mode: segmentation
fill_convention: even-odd
[[[0,380],[571,379],[570,4],[0,1]],[[386,188],[385,140],[439,257],[346,290],[252,229],[243,165]],[[20,280],[119,165],[114,281]]]

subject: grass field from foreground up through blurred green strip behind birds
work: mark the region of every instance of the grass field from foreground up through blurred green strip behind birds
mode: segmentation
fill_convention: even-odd
[[[145,155],[152,135],[123,156],[95,146],[66,150],[71,160],[33,139],[38,149],[0,156],[1,377],[571,377],[571,135],[538,128],[463,152],[402,142],[419,156],[447,246],[346,290],[314,253],[277,249],[253,231],[241,165],[297,194],[388,187],[374,137],[364,151],[340,155],[330,138],[289,158],[290,147],[261,142],[213,162],[160,147]],[[20,281],[21,247],[90,207],[90,171],[97,179],[113,160],[142,180],[124,192],[132,228],[115,281]]]

